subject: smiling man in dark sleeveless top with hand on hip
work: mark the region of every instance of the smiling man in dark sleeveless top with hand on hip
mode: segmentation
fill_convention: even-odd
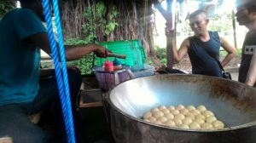
[[[222,66],[227,65],[236,55],[236,49],[224,37],[219,37],[218,32],[207,31],[208,22],[204,10],[196,10],[190,14],[189,26],[195,36],[184,39],[178,51],[173,46],[173,57],[178,62],[185,54],[189,54],[193,74],[222,77],[222,70],[218,66],[220,46],[228,52],[221,61]]]

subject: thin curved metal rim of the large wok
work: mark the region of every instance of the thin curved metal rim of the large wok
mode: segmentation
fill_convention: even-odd
[[[225,78],[221,78],[221,77],[211,77],[211,76],[204,76],[204,75],[193,75],[193,74],[190,74],[190,75],[184,75],[184,74],[168,74],[168,75],[171,75],[171,76],[189,76],[189,77],[208,77],[208,78],[218,78],[218,79],[221,79],[221,80],[224,80],[224,81],[227,81],[229,79],[225,79]],[[155,76],[155,75],[153,75]],[[152,76],[148,76],[148,77],[152,77]],[[138,77],[138,78],[143,78],[143,77]],[[134,78],[134,79],[137,79],[137,78]],[[133,79],[130,79],[130,80],[133,80]],[[123,83],[126,83],[126,82],[129,82],[130,80],[127,80]],[[233,83],[238,83],[240,84],[241,86],[245,86],[249,89],[253,89],[253,90],[256,90],[254,89],[253,87],[247,85],[247,84],[244,84],[244,83],[239,83],[239,82],[236,82],[236,81],[233,81],[231,80],[230,82],[233,82]],[[119,87],[119,85],[122,84],[122,83],[119,83],[117,86],[115,86],[113,89],[116,89]],[[253,126],[256,125],[256,120],[253,121],[253,122],[250,122],[250,123],[245,123],[245,124],[241,124],[241,125],[238,125],[238,126],[233,126],[233,127],[226,127],[224,129],[209,129],[209,130],[203,130],[203,129],[181,129],[181,128],[172,128],[172,127],[167,127],[167,126],[164,126],[164,125],[158,125],[158,124],[154,124],[154,123],[148,123],[146,121],[143,121],[142,119],[139,119],[138,117],[131,117],[129,114],[121,111],[117,106],[114,106],[113,102],[110,100],[110,94],[112,93],[113,89],[110,89],[110,91],[108,92],[107,94],[107,101],[108,101],[108,104],[113,107],[117,112],[119,112],[120,114],[122,114],[123,116],[125,117],[128,117],[128,118],[131,118],[131,119],[134,119],[136,120],[137,122],[140,122],[140,123],[144,123],[144,124],[149,124],[149,125],[154,125],[158,128],[164,128],[164,129],[174,129],[174,130],[177,130],[177,131],[186,131],[186,132],[195,132],[195,133],[214,133],[214,132],[227,132],[227,131],[235,131],[235,130],[240,130],[240,129],[246,129],[246,128],[251,128]]]

